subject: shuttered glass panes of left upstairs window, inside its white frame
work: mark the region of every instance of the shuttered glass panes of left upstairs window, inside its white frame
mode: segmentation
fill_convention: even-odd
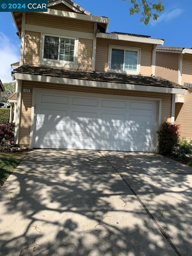
[[[74,52],[75,39],[45,35],[44,59],[74,62]]]

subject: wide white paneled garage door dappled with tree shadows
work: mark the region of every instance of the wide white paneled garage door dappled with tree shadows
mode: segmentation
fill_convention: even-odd
[[[37,92],[34,148],[155,151],[156,101],[84,95]]]

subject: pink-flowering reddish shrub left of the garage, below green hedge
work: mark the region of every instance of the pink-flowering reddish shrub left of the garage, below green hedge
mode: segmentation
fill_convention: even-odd
[[[0,152],[7,151],[14,146],[15,124],[0,125]]]

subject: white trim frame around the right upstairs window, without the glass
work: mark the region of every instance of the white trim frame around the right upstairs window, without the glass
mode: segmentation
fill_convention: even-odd
[[[111,69],[112,49],[137,51],[138,52],[138,56],[137,56],[137,71]],[[141,66],[141,48],[140,47],[136,48],[136,47],[126,47],[126,46],[122,46],[122,45],[109,44],[108,66],[107,66],[107,71],[108,72],[139,75],[140,74],[140,66]]]

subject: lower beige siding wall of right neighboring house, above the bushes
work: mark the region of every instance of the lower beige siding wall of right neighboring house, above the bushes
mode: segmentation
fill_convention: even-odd
[[[175,123],[180,124],[181,136],[192,140],[192,89],[184,96],[184,103],[176,103]]]

